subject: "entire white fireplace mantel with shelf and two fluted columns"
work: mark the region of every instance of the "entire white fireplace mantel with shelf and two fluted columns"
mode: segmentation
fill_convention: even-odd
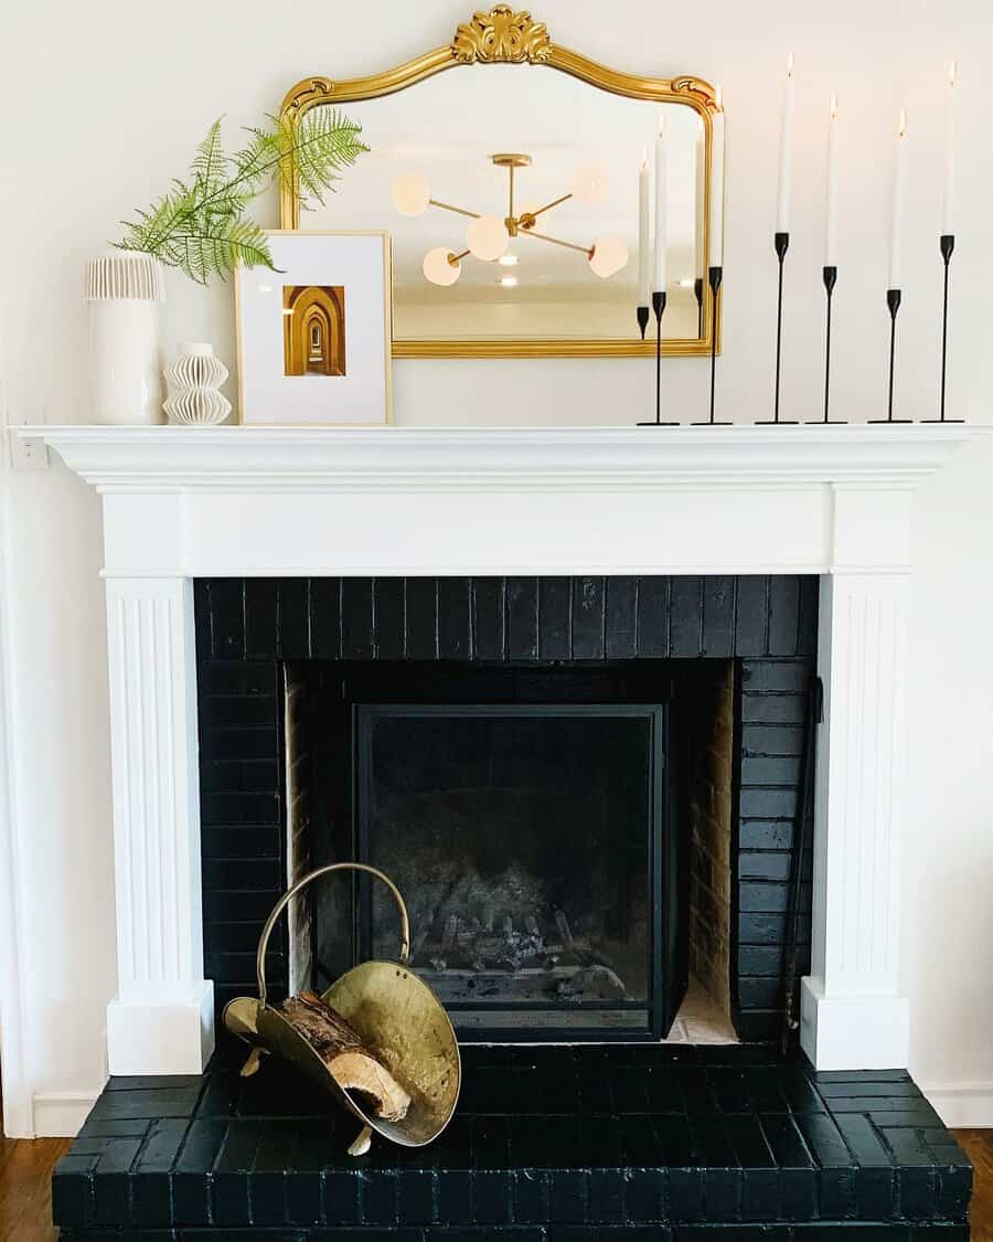
[[[812,975],[819,1068],[905,1066],[905,621],[915,487],[956,426],[29,427],[103,493],[119,990],[112,1073],[199,1071],[191,580],[819,574]]]

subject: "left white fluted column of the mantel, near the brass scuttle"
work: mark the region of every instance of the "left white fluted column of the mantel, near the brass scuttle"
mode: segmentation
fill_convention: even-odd
[[[204,979],[192,582],[107,582],[118,995],[112,1074],[200,1073]]]

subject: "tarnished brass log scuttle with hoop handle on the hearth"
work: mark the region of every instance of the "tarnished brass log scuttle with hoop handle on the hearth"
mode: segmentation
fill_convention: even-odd
[[[321,1000],[340,1013],[361,1036],[369,1051],[410,1094],[407,1115],[387,1122],[364,1108],[353,1092],[343,1090],[317,1051],[278,1009],[267,1001],[266,950],[277,919],[289,902],[314,879],[334,871],[366,872],[390,889],[400,912],[401,941],[397,961],[364,961],[338,979]],[[420,1148],[436,1139],[448,1125],[458,1102],[462,1063],[458,1042],[441,1001],[408,969],[410,920],[403,898],[393,882],[375,867],[338,862],[319,867],[299,879],[273,907],[256,955],[258,999],[238,996],[225,1009],[228,1031],[252,1048],[242,1069],[249,1076],[262,1056],[277,1053],[329,1090],[362,1125],[349,1148],[351,1155],[369,1150],[375,1130],[405,1148]]]

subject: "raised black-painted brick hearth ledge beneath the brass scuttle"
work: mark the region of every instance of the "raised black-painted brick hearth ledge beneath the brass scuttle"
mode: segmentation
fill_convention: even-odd
[[[972,1166],[902,1069],[768,1046],[467,1047],[431,1146],[294,1072],[112,1078],[53,1179],[63,1242],[968,1238]]]

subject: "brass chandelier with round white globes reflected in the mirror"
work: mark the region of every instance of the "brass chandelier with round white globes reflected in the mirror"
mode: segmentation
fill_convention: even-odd
[[[628,248],[619,237],[597,237],[592,245],[580,246],[576,242],[550,237],[547,233],[535,230],[539,216],[570,199],[587,204],[603,202],[607,197],[607,176],[602,169],[593,165],[580,168],[572,178],[568,194],[552,199],[542,207],[516,214],[514,173],[519,168],[529,168],[531,156],[504,152],[490,155],[490,160],[498,168],[505,168],[509,176],[508,210],[503,220],[498,216],[480,215],[478,211],[468,211],[465,207],[457,207],[451,202],[439,202],[437,199],[432,199],[431,185],[427,178],[420,173],[407,173],[393,181],[393,206],[401,215],[420,216],[428,207],[441,207],[442,211],[454,211],[457,215],[469,216],[472,220],[465,230],[465,250],[456,252],[447,246],[436,246],[425,255],[422,271],[425,278],[432,284],[454,284],[462,274],[462,260],[469,255],[484,263],[498,262],[505,256],[511,237],[534,237],[554,246],[578,251],[581,255],[586,255],[590,270],[604,279],[614,276],[627,265]]]

